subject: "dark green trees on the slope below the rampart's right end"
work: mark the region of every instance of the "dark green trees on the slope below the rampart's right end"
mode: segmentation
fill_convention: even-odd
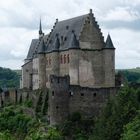
[[[131,122],[140,107],[139,90],[123,88],[116,98],[110,99],[101,116],[96,120],[90,140],[119,140],[123,126]]]

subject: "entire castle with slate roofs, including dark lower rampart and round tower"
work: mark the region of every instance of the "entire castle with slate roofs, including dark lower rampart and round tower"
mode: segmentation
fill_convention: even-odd
[[[73,112],[85,117],[100,112],[115,89],[115,48],[106,42],[92,10],[72,19],[56,20],[48,35],[33,39],[22,66],[22,88],[49,89],[50,123]]]

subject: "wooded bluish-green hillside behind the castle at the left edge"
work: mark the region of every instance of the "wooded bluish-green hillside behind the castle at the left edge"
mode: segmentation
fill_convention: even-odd
[[[20,71],[13,71],[9,68],[0,67],[0,87],[12,88],[19,87]]]

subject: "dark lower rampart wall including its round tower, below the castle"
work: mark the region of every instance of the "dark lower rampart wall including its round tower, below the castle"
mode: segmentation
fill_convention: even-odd
[[[58,124],[74,112],[85,118],[97,116],[110,96],[118,88],[89,88],[70,85],[69,76],[50,77],[49,115],[50,123]]]

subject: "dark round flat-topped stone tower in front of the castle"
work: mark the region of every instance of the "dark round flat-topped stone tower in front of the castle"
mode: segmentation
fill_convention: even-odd
[[[70,77],[50,76],[49,116],[50,124],[59,124],[69,115]]]

